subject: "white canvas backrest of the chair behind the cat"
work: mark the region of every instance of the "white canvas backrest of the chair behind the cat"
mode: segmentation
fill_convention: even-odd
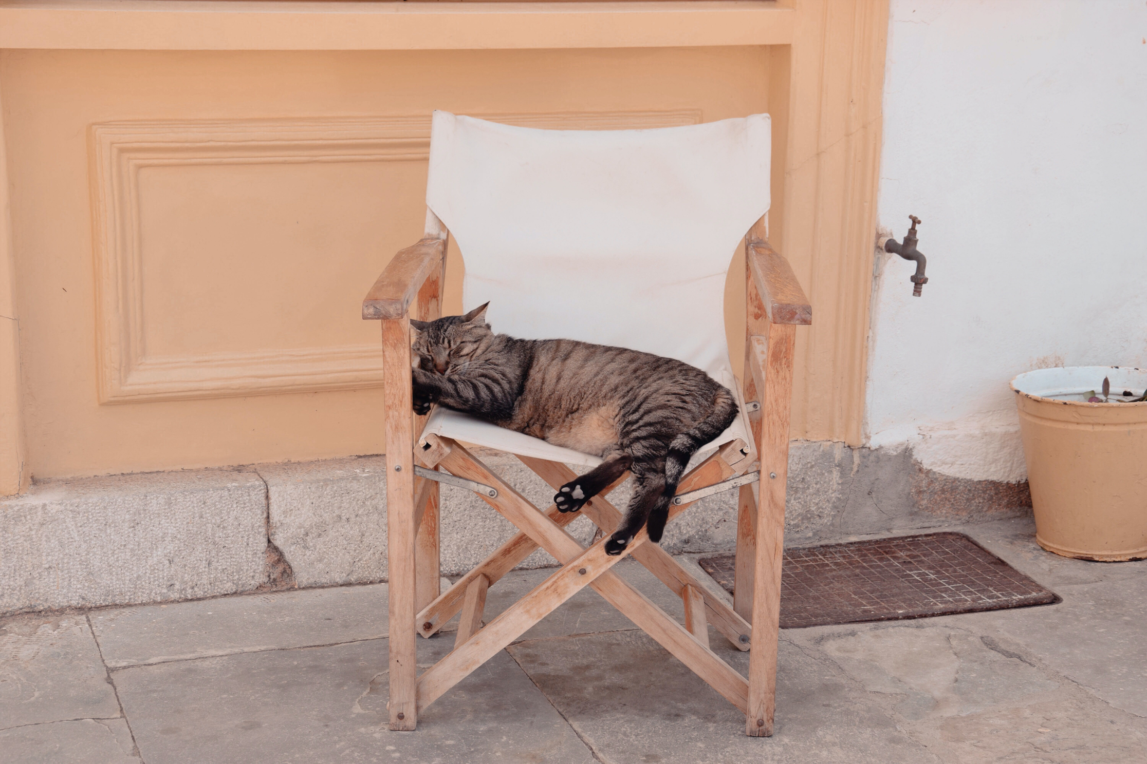
[[[767,115],[634,131],[434,115],[427,205],[466,262],[463,309],[728,370],[725,275],[768,210]]]

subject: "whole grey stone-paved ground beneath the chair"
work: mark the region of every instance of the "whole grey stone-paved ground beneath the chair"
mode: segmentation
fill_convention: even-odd
[[[954,529],[1063,601],[782,631],[770,739],[590,590],[390,732],[375,584],[0,621],[0,762],[1147,763],[1147,562],[1059,558],[1028,520]],[[487,619],[547,573],[502,580]]]

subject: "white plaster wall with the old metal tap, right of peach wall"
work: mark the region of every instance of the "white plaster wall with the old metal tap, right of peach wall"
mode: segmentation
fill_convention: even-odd
[[[1008,381],[1147,365],[1147,2],[892,0],[866,438],[1024,478]]]

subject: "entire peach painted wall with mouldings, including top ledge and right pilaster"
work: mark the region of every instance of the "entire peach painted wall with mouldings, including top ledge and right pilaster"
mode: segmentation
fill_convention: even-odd
[[[814,310],[793,435],[858,441],[884,0],[312,5],[0,7],[0,495],[382,451],[379,325],[359,306],[421,234],[432,109],[574,128],[770,111],[772,238]],[[364,29],[434,45],[437,26],[398,16],[453,30],[444,47],[489,29],[521,49],[273,49],[366,47]],[[100,46],[164,49],[79,49]],[[227,49],[243,47],[267,49]],[[452,252],[447,312],[461,267]]]

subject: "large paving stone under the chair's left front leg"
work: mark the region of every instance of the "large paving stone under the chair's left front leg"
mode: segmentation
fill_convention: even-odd
[[[453,645],[419,640],[419,664]],[[141,755],[186,762],[570,762],[593,756],[505,653],[387,728],[387,640],[244,653],[114,672]]]

